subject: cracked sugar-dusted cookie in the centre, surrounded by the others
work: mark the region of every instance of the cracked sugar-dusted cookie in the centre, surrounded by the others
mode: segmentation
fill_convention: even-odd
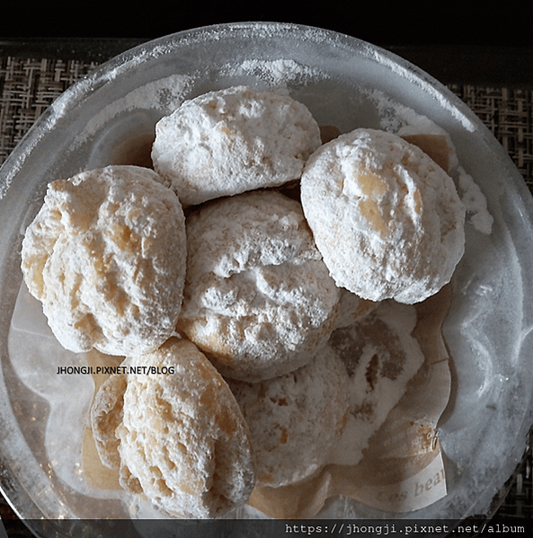
[[[178,329],[227,377],[256,382],[304,366],[333,331],[339,289],[296,200],[247,192],[187,219]]]

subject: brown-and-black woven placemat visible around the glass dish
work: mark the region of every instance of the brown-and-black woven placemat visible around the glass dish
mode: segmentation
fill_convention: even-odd
[[[40,114],[98,63],[56,58],[0,58],[0,164]],[[533,193],[533,96],[531,90],[449,84],[502,144]],[[533,518],[531,449],[505,488],[497,513]],[[511,489],[510,489],[511,488]],[[509,489],[509,493],[507,493]],[[0,514],[12,516],[0,496]],[[30,535],[23,534],[20,536]]]

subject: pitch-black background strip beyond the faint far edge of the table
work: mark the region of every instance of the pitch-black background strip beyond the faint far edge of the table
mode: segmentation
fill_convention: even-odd
[[[0,9],[0,38],[156,38],[218,22],[298,22],[375,44],[530,46],[525,4],[426,2],[117,2],[70,4],[10,0]]]

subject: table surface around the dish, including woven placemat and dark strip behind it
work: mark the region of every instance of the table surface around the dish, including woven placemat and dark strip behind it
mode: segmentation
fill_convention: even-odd
[[[0,164],[67,87],[143,41],[0,38]],[[505,148],[533,193],[533,49],[381,46],[421,67],[465,101]],[[452,59],[443,62],[443,57]],[[533,518],[532,463],[529,447],[515,476],[502,489],[507,493],[510,488],[497,516]],[[0,516],[10,537],[31,536],[1,496]]]

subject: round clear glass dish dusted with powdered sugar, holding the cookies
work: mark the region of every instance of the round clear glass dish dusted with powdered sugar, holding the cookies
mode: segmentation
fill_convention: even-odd
[[[448,495],[404,515],[342,501],[321,516],[489,515],[494,496],[520,463],[532,422],[533,200],[481,121],[431,76],[366,42],[284,23],[216,25],[131,49],[58,98],[4,163],[0,481],[5,496],[26,519],[127,515],[120,494],[94,496],[77,471],[84,425],[71,425],[79,413],[86,414],[92,380],[56,374],[58,365],[83,364],[84,357],[66,357],[43,324],[38,304],[27,301],[21,287],[22,234],[49,181],[119,162],[127,151],[146,146],[156,120],[183,99],[235,84],[285,87],[319,124],[342,131],[401,125],[413,111],[449,133],[494,222],[490,235],[468,231],[444,328],[454,357],[452,398],[440,423]],[[56,428],[54,441],[50,428]]]

